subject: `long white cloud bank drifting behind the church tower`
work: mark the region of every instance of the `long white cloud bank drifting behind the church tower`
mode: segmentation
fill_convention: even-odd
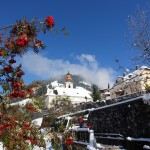
[[[99,67],[94,55],[82,54],[75,57],[79,60],[78,64],[72,64],[63,59],[48,59],[37,54],[26,54],[20,60],[23,69],[40,79],[49,79],[50,77],[66,74],[69,70],[71,74],[81,75],[87,81],[106,88],[108,83],[114,83],[115,72],[112,68]]]

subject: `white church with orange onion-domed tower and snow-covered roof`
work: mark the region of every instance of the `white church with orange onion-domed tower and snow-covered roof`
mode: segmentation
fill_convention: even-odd
[[[79,104],[83,102],[93,101],[90,91],[79,86],[77,86],[76,88],[73,87],[73,81],[69,71],[66,74],[65,81],[66,81],[65,85],[58,83],[58,81],[51,82],[52,89],[49,88],[49,85],[46,85],[47,87],[46,107],[47,108],[51,107],[52,100],[57,96],[69,97],[72,104]]]

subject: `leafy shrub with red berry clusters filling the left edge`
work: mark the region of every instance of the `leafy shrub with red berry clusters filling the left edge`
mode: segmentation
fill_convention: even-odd
[[[26,140],[32,145],[41,145],[43,141],[39,129],[32,126],[29,117],[29,114],[38,109],[32,104],[27,104],[26,107],[9,105],[8,98],[11,100],[34,96],[33,88],[38,85],[24,85],[22,80],[24,72],[21,65],[15,66],[15,58],[28,52],[29,48],[35,53],[38,53],[39,48],[44,48],[37,34],[40,31],[45,33],[46,29],[49,30],[53,26],[52,16],[47,17],[44,22],[37,19],[27,22],[24,18],[17,20],[15,25],[6,26],[8,33],[0,34],[0,79],[5,92],[0,103],[0,139],[6,149],[27,149]],[[44,146],[43,143],[42,147]]]

